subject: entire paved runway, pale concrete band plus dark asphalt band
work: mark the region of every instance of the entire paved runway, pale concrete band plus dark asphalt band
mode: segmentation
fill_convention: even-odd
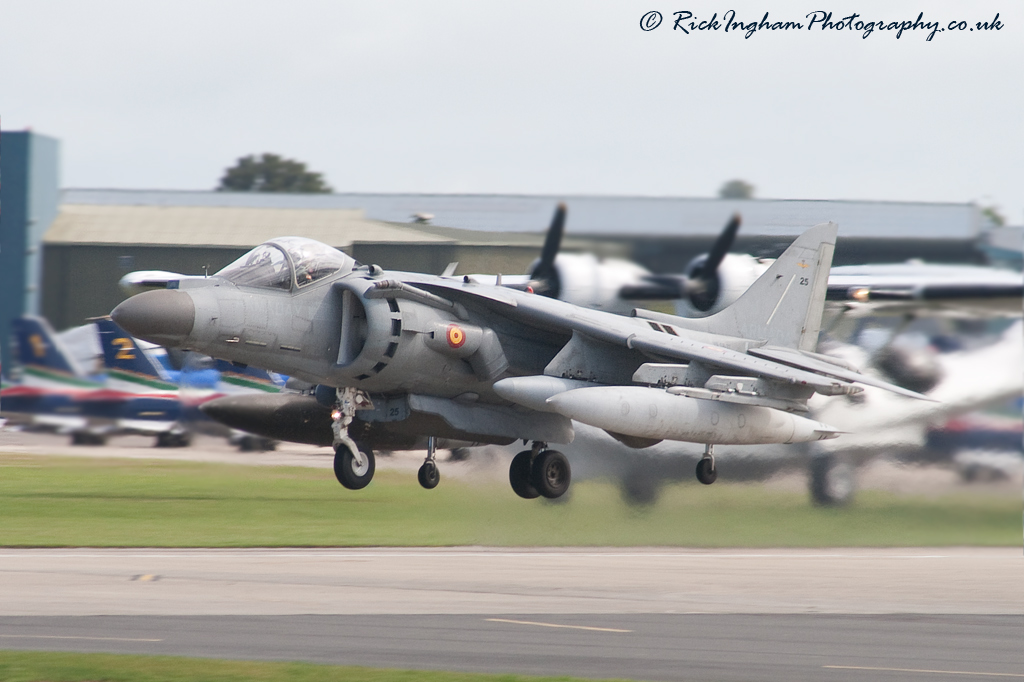
[[[15,649],[641,680],[1024,679],[1017,548],[0,550],[0,647]]]

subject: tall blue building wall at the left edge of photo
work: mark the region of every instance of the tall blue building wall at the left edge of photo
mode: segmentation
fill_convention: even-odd
[[[0,132],[0,359],[10,367],[10,321],[39,314],[43,235],[60,202],[60,143]]]

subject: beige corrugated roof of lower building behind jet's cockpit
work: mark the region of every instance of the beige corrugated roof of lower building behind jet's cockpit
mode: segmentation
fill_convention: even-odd
[[[353,242],[447,242],[446,237],[368,220],[361,210],[62,204],[43,241],[251,247],[274,237],[314,239],[338,248]]]

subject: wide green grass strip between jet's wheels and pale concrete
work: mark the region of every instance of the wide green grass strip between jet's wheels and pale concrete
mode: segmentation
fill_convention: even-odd
[[[0,546],[941,547],[1020,544],[1017,497],[861,492],[847,508],[757,483],[668,486],[634,509],[609,483],[520,500],[507,484],[424,491],[383,471],[364,491],[330,470],[0,455]]]

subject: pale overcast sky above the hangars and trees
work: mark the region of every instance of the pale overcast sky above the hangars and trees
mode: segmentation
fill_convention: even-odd
[[[990,20],[1001,31],[673,31]],[[658,10],[665,20],[640,29]],[[1024,222],[1024,3],[11,2],[0,116],[69,187],[213,188],[247,154],[339,191],[757,196],[995,205]]]

